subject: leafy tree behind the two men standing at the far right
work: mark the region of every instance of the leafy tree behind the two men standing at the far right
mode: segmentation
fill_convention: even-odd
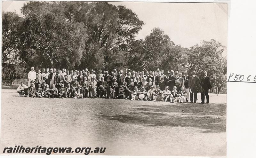
[[[226,83],[227,73],[227,60],[222,57],[224,49],[226,47],[214,39],[192,46],[187,53],[189,72],[195,70],[199,78],[203,78],[204,71],[207,71],[213,86],[221,89]]]

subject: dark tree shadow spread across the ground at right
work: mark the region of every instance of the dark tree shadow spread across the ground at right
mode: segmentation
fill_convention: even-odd
[[[143,106],[143,107],[146,107],[146,106]],[[196,115],[193,115],[193,111],[197,111],[198,110],[197,108],[192,108],[191,110],[189,107],[185,107],[182,110],[182,107],[172,106],[172,108],[170,108],[169,105],[161,106],[161,107],[158,106],[158,108],[148,105],[148,108],[135,108],[135,109],[136,111],[129,112],[127,115],[102,114],[98,116],[111,121],[140,124],[145,126],[196,127],[196,128],[204,129],[204,131],[202,131],[203,133],[226,132],[226,118],[223,117],[223,115],[216,115],[215,112],[213,115],[214,117],[209,117],[209,112],[210,111],[212,112],[212,110],[208,110],[208,113],[207,113],[206,112],[207,108],[205,110],[202,110],[202,109],[199,110],[201,111],[201,113],[203,113],[202,115],[200,115],[200,113],[198,112],[195,113]],[[215,109],[218,109],[218,108],[215,108]],[[191,113],[191,115],[184,117],[184,115],[182,114],[183,113],[182,111],[186,114]],[[168,115],[166,112],[167,113],[175,112],[180,114],[172,116],[172,115]],[[200,117],[198,117],[198,115]]]

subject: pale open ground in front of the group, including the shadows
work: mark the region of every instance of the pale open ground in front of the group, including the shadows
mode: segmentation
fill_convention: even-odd
[[[2,89],[1,153],[39,145],[106,147],[104,155],[225,156],[226,95],[211,94],[210,102],[41,99]]]

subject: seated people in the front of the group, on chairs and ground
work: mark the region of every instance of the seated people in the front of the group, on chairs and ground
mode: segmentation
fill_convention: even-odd
[[[173,102],[179,102],[183,103],[186,102],[186,95],[187,92],[184,90],[184,87],[181,87],[180,91],[177,91],[177,87],[173,86],[173,90],[169,90],[169,86],[165,86],[165,90],[161,91],[160,86],[156,85],[156,90],[154,89],[153,85],[150,85],[147,88],[150,88],[149,90],[146,90],[144,86],[141,86],[140,90],[138,89],[138,86],[134,86],[133,89],[131,89],[131,85],[129,84],[127,86],[126,82],[123,82],[124,85],[118,86],[116,83],[116,78],[114,79],[114,82],[111,83],[109,86],[107,85],[106,81],[102,79],[99,83],[97,83],[94,80],[94,77],[92,79],[92,82],[84,81],[81,85],[77,84],[76,81],[77,78],[75,78],[74,82],[68,83],[67,87],[64,87],[64,84],[59,84],[59,88],[55,87],[55,84],[52,84],[52,88],[49,88],[49,84],[43,83],[41,85],[40,83],[37,84],[37,88],[35,87],[35,83],[32,82],[31,86],[28,87],[25,84],[21,83],[18,87],[17,91],[21,95],[24,95],[26,97],[31,98],[87,98],[89,91],[91,91],[92,96],[99,96],[100,98],[105,95],[105,93],[108,94],[108,96],[112,96],[113,92],[118,91],[119,95],[117,97],[113,98],[120,98],[121,93],[125,93],[125,96],[127,96],[125,99],[129,98],[131,100],[149,100],[149,101],[170,101]],[[76,87],[77,86],[77,87]],[[110,98],[110,97],[109,97]]]

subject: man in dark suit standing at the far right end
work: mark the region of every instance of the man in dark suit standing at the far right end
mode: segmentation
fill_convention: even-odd
[[[203,88],[203,91],[201,93],[201,104],[204,104],[204,95],[206,97],[206,103],[205,104],[209,104],[209,94],[208,94],[208,90],[212,88],[212,85],[210,83],[210,77],[207,76],[207,72],[204,71],[204,78],[201,81],[201,86]]]

